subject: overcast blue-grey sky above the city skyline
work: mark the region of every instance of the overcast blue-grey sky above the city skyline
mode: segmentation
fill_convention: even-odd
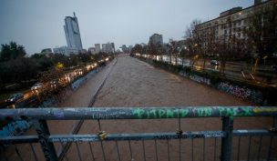
[[[65,16],[76,12],[82,43],[120,45],[148,43],[149,36],[180,40],[198,18],[216,18],[231,7],[253,0],[0,0],[0,44],[15,41],[29,55],[43,48],[67,45]]]

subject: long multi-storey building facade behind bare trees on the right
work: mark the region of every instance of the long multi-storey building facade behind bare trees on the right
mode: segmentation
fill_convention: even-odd
[[[251,15],[272,8],[272,6],[277,5],[276,2],[276,0],[255,0],[254,5],[250,7],[244,9],[242,7],[231,8],[222,12],[215,19],[196,25],[193,35],[200,37],[201,44],[204,47],[215,44],[215,42],[229,41],[231,43],[233,40],[237,41],[236,45],[242,45],[243,40],[248,39],[246,31],[251,27]]]

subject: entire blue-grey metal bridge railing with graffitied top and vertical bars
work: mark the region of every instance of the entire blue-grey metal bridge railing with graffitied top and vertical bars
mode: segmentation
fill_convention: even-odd
[[[271,128],[233,129],[234,117],[263,116],[273,118],[273,124],[269,125]],[[10,160],[11,154],[17,156],[18,160],[25,160],[26,157],[26,160],[44,160],[45,158],[50,161],[70,159],[104,161],[276,160],[276,116],[276,106],[2,109],[0,110],[1,121],[26,120],[32,122],[36,129],[36,135],[0,137],[1,160]],[[182,131],[181,120],[200,117],[220,117],[222,120],[221,130]],[[137,119],[138,121],[161,119],[167,121],[165,119],[169,118],[178,120],[177,131],[109,134],[103,131],[100,122],[101,120],[114,119]],[[49,133],[46,120],[81,120],[82,123],[85,120],[96,120],[98,131],[96,134],[52,135]],[[88,127],[86,126],[86,128]],[[219,139],[221,140],[219,141]],[[41,148],[38,147],[37,143],[40,144]],[[111,143],[115,143],[115,145],[111,145]],[[20,153],[18,144],[20,146],[22,144],[28,145],[22,147],[25,149],[23,154]],[[74,144],[75,146],[73,146]],[[248,146],[246,146],[247,144]],[[60,145],[61,148],[57,149],[57,145]],[[153,148],[150,148],[151,146]],[[31,155],[27,156],[26,152]],[[86,154],[82,155],[83,153]],[[241,154],[243,155],[241,156]],[[251,154],[255,154],[255,158]],[[75,156],[77,159],[73,158]]]

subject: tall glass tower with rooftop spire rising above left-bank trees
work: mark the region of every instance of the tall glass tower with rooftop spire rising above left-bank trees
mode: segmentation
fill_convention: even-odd
[[[67,46],[70,48],[76,48],[79,52],[82,51],[82,41],[79,26],[77,23],[77,16],[73,13],[72,16],[66,16],[65,18],[65,34],[67,38]]]

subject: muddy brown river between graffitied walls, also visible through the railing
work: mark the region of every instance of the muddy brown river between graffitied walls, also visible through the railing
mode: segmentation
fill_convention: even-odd
[[[75,93],[68,96],[60,107],[64,106],[88,106],[92,96],[96,94],[97,88],[108,76],[106,83],[100,90],[94,106],[253,106],[234,96],[222,93],[209,86],[203,86],[190,79],[174,75],[149,64],[139,61],[128,55],[119,56],[97,75],[87,80]],[[109,75],[108,75],[109,73]],[[183,131],[221,130],[221,118],[198,118],[181,119]],[[48,126],[52,134],[67,134],[76,121],[49,121]],[[169,120],[104,120],[100,121],[101,130],[111,133],[150,133],[150,132],[176,132],[178,119]],[[235,118],[234,128],[269,128],[272,125],[271,118]],[[99,131],[97,121],[85,121],[79,134],[97,134]],[[31,132],[29,132],[31,133]],[[236,146],[238,139],[233,139]],[[257,156],[257,144],[259,138],[251,138],[251,157]],[[263,146],[268,146],[269,139],[262,140]],[[147,160],[155,160],[154,141],[145,141]],[[214,140],[206,139],[206,160],[213,156]],[[217,160],[220,158],[221,140],[217,139]],[[100,143],[91,144],[96,160],[103,160]],[[142,142],[132,141],[132,158],[128,151],[128,142],[118,142],[121,160],[143,160]],[[181,141],[182,158],[191,160],[191,140]],[[241,145],[248,145],[248,138],[241,139]],[[273,148],[276,149],[276,139]],[[87,143],[80,143],[80,154],[82,160],[92,160]],[[114,142],[104,142],[104,151],[107,161],[117,159],[117,149]],[[167,141],[161,140],[157,143],[159,160],[177,160],[179,158],[179,141],[169,141],[168,156]],[[194,160],[201,160],[203,139],[194,139]],[[36,145],[37,149],[39,146]],[[255,148],[254,148],[255,147]],[[56,149],[60,144],[56,144]],[[236,148],[232,155],[236,156]],[[241,146],[241,159],[247,159],[247,147]],[[39,152],[38,152],[39,153]],[[40,152],[41,154],[41,152]],[[267,154],[267,148],[262,147],[262,155]],[[273,155],[273,154],[272,154]],[[26,156],[27,157],[27,156]],[[67,153],[68,160],[77,160],[77,146],[72,145]],[[262,156],[264,158],[264,156]],[[66,159],[65,159],[66,160]]]

